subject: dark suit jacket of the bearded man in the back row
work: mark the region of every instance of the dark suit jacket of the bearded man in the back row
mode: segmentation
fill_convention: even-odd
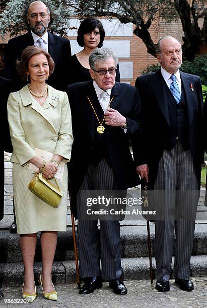
[[[34,45],[31,31],[17,36],[8,42],[5,54],[6,67],[4,77],[12,80],[13,91],[19,91],[25,86],[25,83],[22,82],[17,73],[16,60],[20,60],[22,51],[31,45]],[[48,52],[54,60],[55,68],[47,83],[57,90],[66,90],[65,81],[68,71],[66,71],[65,65],[71,56],[70,41],[48,32]]]

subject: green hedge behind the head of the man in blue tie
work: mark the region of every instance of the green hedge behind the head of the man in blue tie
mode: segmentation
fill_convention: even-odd
[[[150,72],[157,71],[160,68],[160,64],[148,65],[146,69],[141,72],[141,75],[145,75]],[[194,61],[183,61],[180,68],[182,71],[189,74],[198,75],[201,78],[202,84],[206,87],[203,87],[204,91],[207,88],[207,54],[196,56]],[[206,93],[205,93],[206,95]]]

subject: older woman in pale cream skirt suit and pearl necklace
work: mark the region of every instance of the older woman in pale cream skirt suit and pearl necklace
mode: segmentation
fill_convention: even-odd
[[[40,200],[28,189],[34,171],[28,164],[43,170],[46,179],[52,178],[61,161],[69,162],[73,143],[71,111],[65,92],[46,85],[45,81],[54,69],[54,62],[44,50],[27,47],[17,69],[29,84],[20,91],[11,93],[8,99],[8,120],[14,151],[13,188],[17,231],[24,263],[23,298],[32,302],[36,298],[33,263],[37,232],[41,231],[42,272],[39,281],[43,294],[48,299],[57,299],[51,280],[52,264],[57,243],[57,231],[66,230],[67,168],[62,180],[57,180],[63,197],[58,208]],[[53,153],[50,162],[44,162],[34,149]]]

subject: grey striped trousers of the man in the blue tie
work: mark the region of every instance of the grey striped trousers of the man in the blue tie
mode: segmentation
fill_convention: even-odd
[[[178,142],[171,151],[164,150],[159,162],[158,175],[154,190],[175,190],[175,198],[166,199],[164,204],[166,211],[165,220],[155,221],[155,259],[157,265],[157,279],[168,281],[170,279],[171,262],[173,255],[174,231],[175,231],[175,277],[189,279],[190,256],[193,247],[195,228],[195,215],[199,199],[199,187],[193,166],[191,150],[184,151],[182,144]],[[178,200],[179,191],[193,191],[193,200]],[[169,195],[168,195],[169,196]],[[188,201],[191,204],[193,214],[186,219],[168,219],[169,208],[183,206],[187,213]],[[174,205],[173,205],[174,203]],[[186,207],[186,208],[185,208]]]

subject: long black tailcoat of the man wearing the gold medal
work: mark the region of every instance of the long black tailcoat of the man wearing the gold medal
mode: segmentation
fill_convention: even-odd
[[[91,102],[98,102],[93,87],[93,81],[83,82],[68,87],[68,99],[71,105],[74,143],[72,146],[71,162],[68,164],[72,210],[76,216],[76,193],[86,174],[94,146],[94,126],[97,119]],[[128,138],[141,131],[140,126],[140,97],[137,89],[127,84],[115,83],[111,91],[114,97],[111,108],[116,109],[127,119],[127,133],[121,127],[105,125],[105,137],[112,168],[114,170],[118,189],[125,190],[139,184],[139,177],[135,172]],[[97,126],[98,126],[97,122]]]

